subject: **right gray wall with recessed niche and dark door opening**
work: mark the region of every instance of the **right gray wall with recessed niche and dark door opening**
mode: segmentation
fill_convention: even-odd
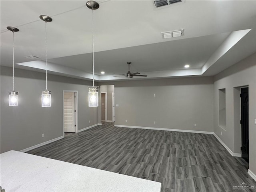
[[[249,86],[249,169],[256,174],[256,59],[255,54],[214,76],[214,132],[234,153],[240,153],[240,87]],[[226,126],[218,122],[218,90],[226,89]],[[222,135],[220,134],[222,132]]]

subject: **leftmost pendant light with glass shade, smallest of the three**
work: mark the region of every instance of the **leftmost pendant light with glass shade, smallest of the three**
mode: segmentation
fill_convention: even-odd
[[[8,30],[12,31],[12,91],[9,91],[9,106],[19,105],[19,92],[14,90],[14,32],[19,30],[15,27],[7,27]]]

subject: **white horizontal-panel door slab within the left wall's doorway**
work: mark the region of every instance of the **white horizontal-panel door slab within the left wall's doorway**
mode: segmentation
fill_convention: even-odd
[[[74,92],[64,92],[64,132],[75,132]]]

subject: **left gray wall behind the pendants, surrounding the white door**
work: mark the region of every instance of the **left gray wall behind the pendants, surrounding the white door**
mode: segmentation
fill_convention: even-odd
[[[1,153],[22,150],[63,135],[63,90],[78,91],[78,128],[97,124],[98,108],[88,107],[87,86],[91,85],[90,81],[49,74],[52,107],[42,108],[45,74],[16,69],[15,90],[20,92],[19,106],[8,106],[12,68],[1,66]]]

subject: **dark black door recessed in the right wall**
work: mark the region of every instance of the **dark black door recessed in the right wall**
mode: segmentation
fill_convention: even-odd
[[[242,158],[249,163],[249,91],[248,87],[241,88],[241,136]]]

